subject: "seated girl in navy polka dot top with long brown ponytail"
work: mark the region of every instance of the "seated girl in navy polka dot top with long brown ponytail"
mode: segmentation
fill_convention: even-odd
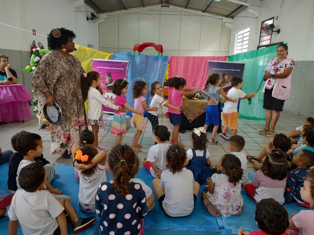
[[[142,235],[147,214],[145,191],[131,182],[136,155],[128,145],[114,146],[108,156],[113,179],[102,183],[96,193],[96,213],[101,235]]]

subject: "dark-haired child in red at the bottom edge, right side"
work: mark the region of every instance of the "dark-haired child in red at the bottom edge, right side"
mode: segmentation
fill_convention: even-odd
[[[272,198],[256,204],[255,221],[261,230],[246,232],[239,228],[238,235],[288,235],[288,212]]]

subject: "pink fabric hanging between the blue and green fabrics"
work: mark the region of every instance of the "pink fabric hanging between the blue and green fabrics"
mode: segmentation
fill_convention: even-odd
[[[186,87],[204,88],[208,78],[208,61],[227,61],[228,56],[170,56],[169,78],[176,75],[186,80]]]

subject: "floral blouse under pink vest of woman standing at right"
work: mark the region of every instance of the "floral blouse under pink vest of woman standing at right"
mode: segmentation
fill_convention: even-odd
[[[284,69],[294,68],[294,60],[286,57],[283,61],[278,63],[278,58],[271,59],[267,65],[266,71],[269,71],[271,74],[283,73]],[[273,89],[277,78],[270,77],[267,80],[266,89]]]

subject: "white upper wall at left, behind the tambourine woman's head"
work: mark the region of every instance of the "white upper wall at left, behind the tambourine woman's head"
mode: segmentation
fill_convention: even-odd
[[[98,49],[98,25],[86,21],[88,12],[93,11],[83,0],[9,0],[1,1],[0,23],[22,28],[28,31],[36,29],[32,35],[20,29],[0,24],[0,49],[30,50],[33,40],[41,42],[47,48],[47,35],[52,28],[65,27],[74,30],[75,42],[87,47],[94,45]],[[42,35],[39,35],[42,34]]]

